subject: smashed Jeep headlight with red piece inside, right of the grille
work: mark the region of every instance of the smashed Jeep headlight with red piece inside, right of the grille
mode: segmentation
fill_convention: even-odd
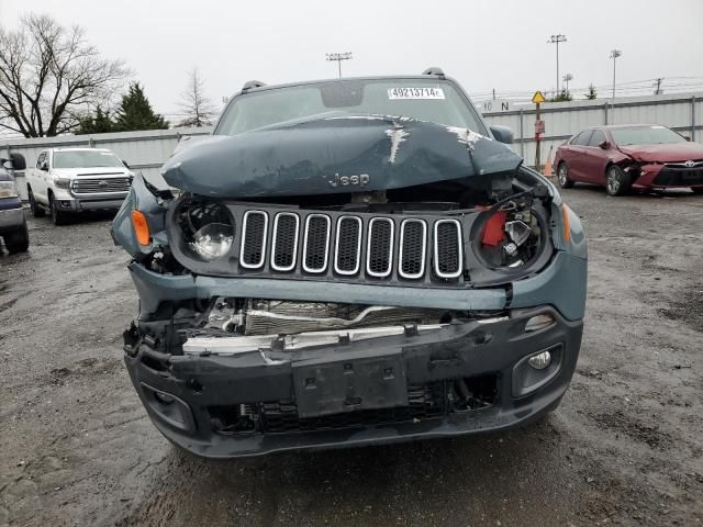
[[[506,201],[486,214],[477,254],[487,267],[520,268],[538,256],[547,231],[531,197]]]

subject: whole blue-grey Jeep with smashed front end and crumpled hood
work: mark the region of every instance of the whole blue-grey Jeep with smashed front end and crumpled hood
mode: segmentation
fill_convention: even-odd
[[[140,296],[124,359],[156,427],[231,458],[555,410],[585,238],[511,139],[437,68],[247,82],[112,225]]]

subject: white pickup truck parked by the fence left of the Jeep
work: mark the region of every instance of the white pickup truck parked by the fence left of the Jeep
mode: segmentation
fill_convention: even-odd
[[[56,225],[81,211],[119,209],[134,173],[104,148],[47,148],[25,170],[32,214],[46,212]]]

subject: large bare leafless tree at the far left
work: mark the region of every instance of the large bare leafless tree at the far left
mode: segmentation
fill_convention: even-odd
[[[25,137],[69,132],[129,75],[122,60],[101,58],[81,27],[27,14],[14,32],[0,27],[0,127]]]

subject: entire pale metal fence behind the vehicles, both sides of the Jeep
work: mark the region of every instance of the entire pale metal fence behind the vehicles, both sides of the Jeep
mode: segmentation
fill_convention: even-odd
[[[511,127],[515,134],[515,143],[511,147],[525,158],[526,165],[534,166],[534,104],[506,112],[484,113],[483,116],[490,124]],[[657,123],[688,135],[693,141],[703,141],[703,93],[618,98],[615,99],[615,103],[611,99],[545,103],[542,105],[542,119],[546,127],[540,146],[543,164],[550,149],[554,156],[554,149],[571,135],[585,126],[599,124]],[[24,155],[27,166],[34,166],[43,148],[104,147],[127,161],[132,169],[141,171],[147,179],[156,182],[160,179],[159,168],[182,137],[207,135],[210,132],[211,128],[172,128],[37,139],[0,139],[0,157],[7,157],[10,152],[18,152]],[[23,184],[22,173],[19,175],[18,182],[22,197],[26,199],[26,186]]]

